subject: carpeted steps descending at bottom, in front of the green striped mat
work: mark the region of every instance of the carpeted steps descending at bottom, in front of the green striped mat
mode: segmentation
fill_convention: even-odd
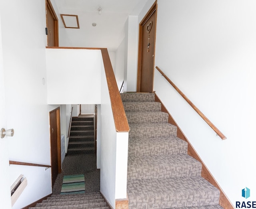
[[[52,195],[30,209],[109,209],[100,192]]]

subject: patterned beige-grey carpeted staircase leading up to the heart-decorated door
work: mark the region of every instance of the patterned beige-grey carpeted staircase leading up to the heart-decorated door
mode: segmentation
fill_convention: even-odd
[[[221,209],[220,192],[201,177],[154,93],[124,93],[130,126],[127,193],[130,209]]]

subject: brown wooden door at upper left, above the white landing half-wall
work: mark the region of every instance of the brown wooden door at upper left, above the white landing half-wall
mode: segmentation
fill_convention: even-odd
[[[46,28],[48,46],[58,47],[58,18],[50,0],[46,1]]]

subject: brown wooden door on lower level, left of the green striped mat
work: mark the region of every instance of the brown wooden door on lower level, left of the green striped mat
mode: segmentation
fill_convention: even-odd
[[[60,109],[57,108],[49,112],[50,115],[50,143],[51,143],[51,166],[52,166],[52,186],[61,172],[60,157]]]

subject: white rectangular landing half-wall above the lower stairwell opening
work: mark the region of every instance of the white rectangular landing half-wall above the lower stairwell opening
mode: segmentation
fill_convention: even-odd
[[[100,50],[46,49],[48,104],[100,104],[101,57]]]

